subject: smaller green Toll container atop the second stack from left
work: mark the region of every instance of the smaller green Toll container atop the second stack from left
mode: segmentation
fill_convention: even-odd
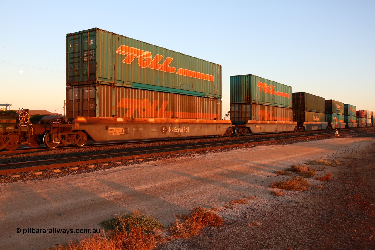
[[[292,108],[292,87],[256,75],[229,78],[230,103],[253,103]]]

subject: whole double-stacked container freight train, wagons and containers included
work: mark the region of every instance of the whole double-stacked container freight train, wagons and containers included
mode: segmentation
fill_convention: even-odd
[[[113,141],[368,127],[373,112],[257,77],[230,77],[222,117],[221,65],[98,28],[66,35],[66,116],[31,124],[0,115],[0,149]]]

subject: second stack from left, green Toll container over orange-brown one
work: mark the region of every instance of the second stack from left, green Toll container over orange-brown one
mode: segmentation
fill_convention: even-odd
[[[233,125],[245,125],[248,120],[292,120],[292,87],[256,75],[231,76],[229,84]]]

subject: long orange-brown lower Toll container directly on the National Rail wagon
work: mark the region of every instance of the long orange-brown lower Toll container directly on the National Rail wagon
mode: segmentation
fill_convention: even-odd
[[[66,88],[67,117],[148,117],[221,119],[219,99],[109,85]]]

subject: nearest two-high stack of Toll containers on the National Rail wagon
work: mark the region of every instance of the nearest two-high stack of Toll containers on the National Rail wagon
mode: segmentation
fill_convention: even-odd
[[[221,119],[221,66],[98,28],[66,35],[67,117]]]

